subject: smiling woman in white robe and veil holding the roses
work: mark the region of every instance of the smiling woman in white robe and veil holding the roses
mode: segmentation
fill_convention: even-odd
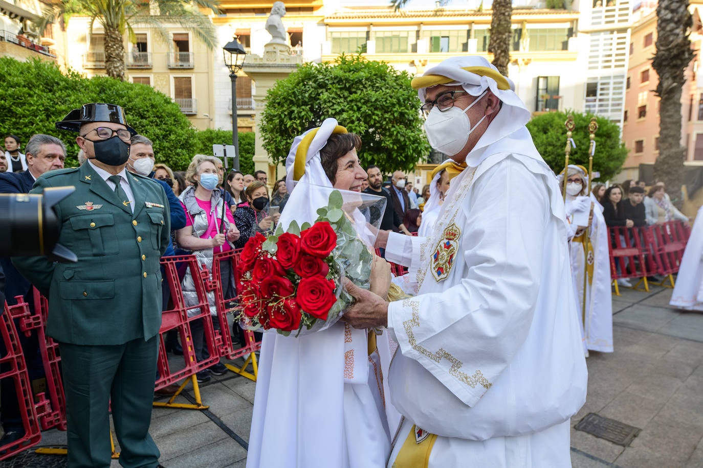
[[[293,220],[314,222],[317,208],[327,205],[311,186],[361,192],[361,140],[353,135],[358,143],[349,150],[350,140],[340,142],[338,134],[347,131],[326,119],[295,138],[285,163],[290,198],[280,217],[283,229]],[[336,173],[325,171],[334,148],[344,149]],[[382,377],[390,364],[388,333],[378,335],[376,350],[369,336],[342,321],[299,337],[264,333],[247,468],[385,467],[400,415]]]

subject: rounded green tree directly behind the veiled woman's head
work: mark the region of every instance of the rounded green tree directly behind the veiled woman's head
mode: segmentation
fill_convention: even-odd
[[[361,55],[301,65],[266,95],[264,148],[273,163],[284,161],[297,135],[334,117],[361,137],[362,166],[409,171],[430,152],[410,80],[407,72]]]

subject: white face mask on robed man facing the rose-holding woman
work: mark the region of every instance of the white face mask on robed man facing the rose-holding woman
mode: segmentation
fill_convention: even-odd
[[[430,141],[430,146],[447,156],[453,156],[460,152],[469,140],[471,132],[475,131],[479,123],[486,118],[484,114],[472,128],[466,112],[479,102],[486,93],[487,91],[481,93],[466,109],[454,106],[442,112],[439,107],[432,107],[432,111],[430,111],[430,115],[427,116],[425,121],[425,133],[427,133],[427,140]]]

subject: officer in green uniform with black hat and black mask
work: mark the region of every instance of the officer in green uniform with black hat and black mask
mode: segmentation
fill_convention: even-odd
[[[42,175],[30,193],[75,187],[55,210],[59,242],[78,261],[32,257],[15,265],[49,297],[47,331],[59,343],[63,365],[68,466],[110,467],[111,401],[120,464],[155,468],[160,454],[148,429],[169,202],[157,182],[125,169],[136,131],[122,107],[86,104],[56,128],[79,134],[87,161]]]

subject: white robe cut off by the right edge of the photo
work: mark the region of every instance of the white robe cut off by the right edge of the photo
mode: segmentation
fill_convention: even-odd
[[[669,304],[680,309],[703,311],[703,206],[698,210],[683,252]]]

